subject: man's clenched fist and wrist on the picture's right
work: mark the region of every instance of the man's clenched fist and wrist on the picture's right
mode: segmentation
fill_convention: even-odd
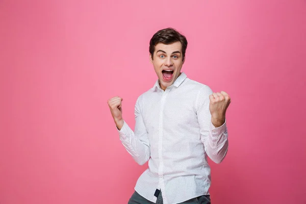
[[[231,97],[224,91],[221,91],[220,93],[217,92],[210,95],[209,100],[212,123],[215,127],[219,127],[225,122],[225,112],[231,103]]]

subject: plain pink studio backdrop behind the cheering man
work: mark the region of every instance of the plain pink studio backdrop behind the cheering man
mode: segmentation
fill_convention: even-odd
[[[0,203],[127,203],[139,166],[107,100],[134,127],[157,79],[148,43],[173,27],[183,71],[232,96],[223,203],[306,203],[306,1],[0,2]]]

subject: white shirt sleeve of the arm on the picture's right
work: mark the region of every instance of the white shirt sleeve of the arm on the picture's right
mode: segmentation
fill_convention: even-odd
[[[228,149],[228,134],[226,120],[220,127],[215,127],[211,122],[209,95],[212,93],[209,86],[200,89],[196,100],[196,112],[205,151],[212,161],[221,163]]]

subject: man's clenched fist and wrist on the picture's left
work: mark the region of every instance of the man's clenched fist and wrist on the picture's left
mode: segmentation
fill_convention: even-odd
[[[121,130],[123,126],[123,118],[122,118],[122,98],[119,96],[113,97],[108,100],[108,105],[111,110],[114,121],[117,125],[118,130]]]

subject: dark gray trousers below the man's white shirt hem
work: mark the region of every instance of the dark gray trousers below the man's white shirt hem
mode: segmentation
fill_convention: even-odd
[[[163,204],[162,192],[159,193],[156,203]],[[135,191],[127,204],[154,204],[154,202],[145,199]],[[209,195],[201,195],[178,204],[211,204],[211,201]]]

